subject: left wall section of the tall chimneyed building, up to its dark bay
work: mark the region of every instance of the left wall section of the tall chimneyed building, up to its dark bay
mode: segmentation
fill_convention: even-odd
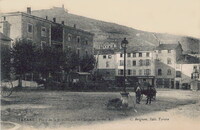
[[[50,43],[51,24],[45,19],[37,18],[26,13],[10,13],[2,17],[10,24],[10,38],[13,40],[25,38],[41,46],[41,42]],[[32,32],[28,31],[28,24],[32,25]],[[46,29],[46,36],[42,36],[42,28]],[[7,28],[9,29],[9,28]]]

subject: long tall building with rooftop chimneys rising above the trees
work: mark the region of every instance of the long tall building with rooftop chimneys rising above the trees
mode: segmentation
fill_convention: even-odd
[[[56,18],[49,20],[27,12],[5,13],[1,17],[0,31],[13,40],[31,40],[38,47],[46,45],[65,50],[74,49],[80,57],[93,54],[94,34],[66,26],[64,21],[57,23]]]

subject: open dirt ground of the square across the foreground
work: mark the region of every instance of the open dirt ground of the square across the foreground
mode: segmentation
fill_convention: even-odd
[[[158,91],[157,100],[134,110],[107,110],[108,99],[119,93],[29,92],[16,93],[3,100],[3,121],[20,124],[23,129],[153,129],[197,127],[200,121],[199,92]],[[134,93],[131,93],[134,101]]]

